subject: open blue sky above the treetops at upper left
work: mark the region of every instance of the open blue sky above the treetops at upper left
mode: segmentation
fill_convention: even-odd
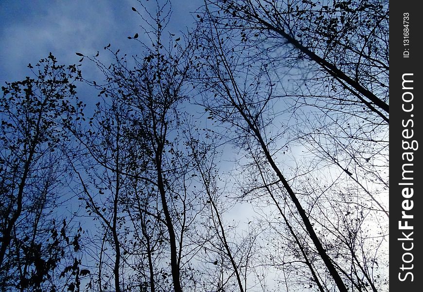
[[[154,11],[155,1],[143,3]],[[202,0],[174,0],[168,30],[177,34],[192,26],[190,12],[201,4]],[[28,75],[28,63],[49,52],[63,64],[77,63],[80,57],[75,52],[95,55],[100,51],[110,57],[103,50],[108,43],[122,53],[140,54],[137,42],[127,39],[135,33],[142,37],[141,19],[131,7],[141,11],[137,0],[0,0],[1,85]],[[96,72],[87,65],[84,62],[83,76],[95,78]]]

